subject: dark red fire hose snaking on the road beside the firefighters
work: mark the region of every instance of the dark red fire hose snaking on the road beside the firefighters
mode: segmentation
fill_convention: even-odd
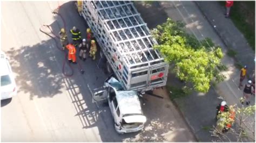
[[[58,10],[58,9],[55,9],[52,13],[53,13],[53,14],[57,14],[57,15],[62,19],[62,22],[63,22],[63,24],[64,24],[64,29],[66,30],[66,23],[65,23],[65,20],[64,20],[64,18],[62,17],[62,15],[60,15],[60,13],[57,12],[57,10]],[[53,36],[50,35],[49,33],[46,33],[45,31],[43,31],[43,30],[42,30],[42,27],[48,27],[48,29],[51,31],[51,33],[52,33],[55,37],[53,37]],[[59,37],[58,35],[56,35],[56,34],[51,30],[50,25],[43,25],[43,26],[41,26],[41,27],[39,28],[39,31],[41,31],[42,33],[44,33],[44,34],[48,35],[50,38],[52,38],[52,39],[55,41],[56,47],[59,49],[59,51],[65,52],[65,51],[62,50],[62,48],[59,47],[59,44],[58,44],[58,42],[57,42],[57,39],[56,39],[56,38],[59,39],[60,37]],[[64,61],[63,61],[62,73],[63,73],[65,76],[70,77],[70,76],[73,75],[73,68],[71,67],[71,65],[70,65],[70,63],[69,63],[69,67],[70,67],[70,69],[71,69],[71,74],[66,74],[66,73],[65,73],[65,63],[67,62],[67,61],[66,61],[67,58],[68,58],[68,53],[65,52],[65,59],[64,59]],[[78,61],[77,61],[77,63],[78,63],[78,67],[79,67],[79,69],[80,69],[80,72],[81,72],[82,74],[84,74],[84,70],[82,69],[82,66],[80,65],[80,63],[79,63]]]

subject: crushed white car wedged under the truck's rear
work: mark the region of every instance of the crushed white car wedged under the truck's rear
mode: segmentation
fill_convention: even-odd
[[[124,91],[116,78],[109,77],[104,83],[104,90],[93,92],[93,96],[95,101],[107,99],[114,128],[118,133],[137,132],[144,128],[146,117],[143,115],[137,91]],[[96,96],[99,98],[96,99]]]

